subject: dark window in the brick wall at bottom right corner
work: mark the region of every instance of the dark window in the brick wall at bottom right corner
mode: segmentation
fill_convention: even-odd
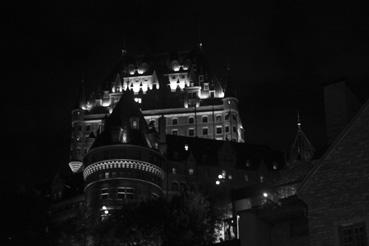
[[[341,246],[367,246],[365,223],[356,223],[339,227]]]

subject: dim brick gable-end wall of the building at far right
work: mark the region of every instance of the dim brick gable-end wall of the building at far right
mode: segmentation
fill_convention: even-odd
[[[341,245],[339,226],[357,222],[366,222],[369,238],[369,103],[318,165],[299,194],[310,245]]]

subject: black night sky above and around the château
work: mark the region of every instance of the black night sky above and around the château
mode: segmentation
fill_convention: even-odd
[[[283,151],[298,110],[313,144],[324,146],[322,83],[346,79],[361,101],[368,98],[369,15],[354,1],[158,2],[49,1],[5,9],[3,160],[17,172],[5,175],[9,180],[44,182],[67,164],[81,74],[88,89],[96,88],[123,47],[144,53],[203,42],[215,75],[231,65],[247,141]]]

